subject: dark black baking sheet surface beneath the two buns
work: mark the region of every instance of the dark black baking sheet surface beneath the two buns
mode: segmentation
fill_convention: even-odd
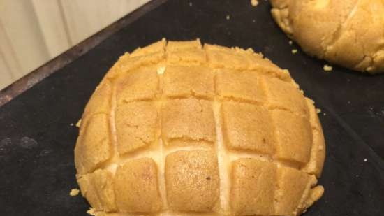
[[[0,215],[87,215],[87,202],[68,195],[77,187],[73,124],[119,55],[163,37],[251,47],[289,69],[322,110],[327,143],[325,194],[304,215],[384,215],[384,75],[337,66],[326,73],[325,62],[300,49],[293,55],[297,46],[288,44],[269,9],[267,1],[252,7],[249,1],[177,0],[140,8],[146,13],[138,20],[124,18],[123,29],[1,106]]]

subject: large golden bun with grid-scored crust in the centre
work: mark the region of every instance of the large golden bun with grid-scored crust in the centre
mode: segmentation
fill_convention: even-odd
[[[313,101],[253,50],[158,41],[87,104],[77,181],[99,215],[300,215],[323,194]]]

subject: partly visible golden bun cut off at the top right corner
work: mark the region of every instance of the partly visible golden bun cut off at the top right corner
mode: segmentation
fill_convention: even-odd
[[[309,55],[384,72],[383,0],[270,0],[277,24]]]

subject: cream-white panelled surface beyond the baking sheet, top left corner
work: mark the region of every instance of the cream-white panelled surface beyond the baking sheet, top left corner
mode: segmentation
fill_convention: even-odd
[[[0,89],[149,0],[0,0]]]

